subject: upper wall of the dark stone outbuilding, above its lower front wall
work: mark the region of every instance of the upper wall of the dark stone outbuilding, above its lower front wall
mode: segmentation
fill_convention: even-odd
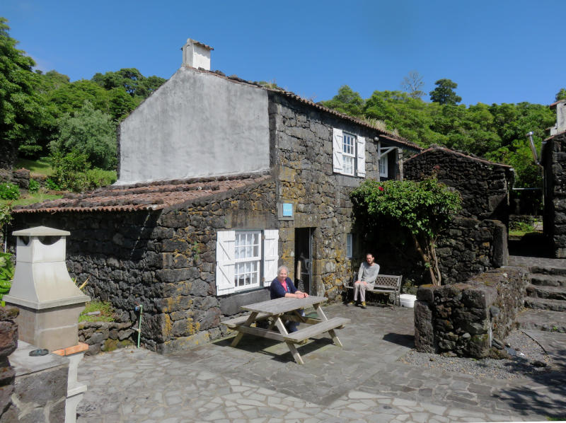
[[[437,147],[406,160],[403,171],[410,180],[422,180],[436,172],[440,182],[460,192],[462,216],[507,224],[513,184],[513,173],[507,166]]]

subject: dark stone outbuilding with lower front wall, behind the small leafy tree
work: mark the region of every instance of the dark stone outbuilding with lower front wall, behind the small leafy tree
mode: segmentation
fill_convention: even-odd
[[[437,254],[443,283],[462,282],[485,270],[507,265],[511,166],[432,146],[403,163],[406,179],[433,173],[460,192],[462,210],[439,238]]]

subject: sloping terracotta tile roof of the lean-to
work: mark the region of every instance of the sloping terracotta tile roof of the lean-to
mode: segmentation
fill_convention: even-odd
[[[19,213],[57,212],[133,212],[159,210],[205,199],[211,195],[261,184],[270,175],[238,175],[220,178],[193,178],[148,184],[117,185],[84,194],[69,194],[60,199],[18,206]]]

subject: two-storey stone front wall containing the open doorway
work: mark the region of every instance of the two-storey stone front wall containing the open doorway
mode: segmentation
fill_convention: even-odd
[[[366,138],[366,178],[379,179],[377,131],[313,110],[303,103],[270,93],[272,166],[277,201],[295,204],[294,221],[280,221],[280,261],[294,278],[295,228],[313,233],[313,286],[317,295],[340,298],[350,281],[346,236],[352,232],[350,191],[364,179],[333,173],[333,128]]]

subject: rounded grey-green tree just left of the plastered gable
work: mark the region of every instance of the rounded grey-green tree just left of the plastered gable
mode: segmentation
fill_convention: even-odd
[[[87,100],[73,116],[67,114],[59,120],[59,134],[50,148],[52,153],[81,151],[93,166],[113,170],[117,163],[115,129],[112,117]]]

